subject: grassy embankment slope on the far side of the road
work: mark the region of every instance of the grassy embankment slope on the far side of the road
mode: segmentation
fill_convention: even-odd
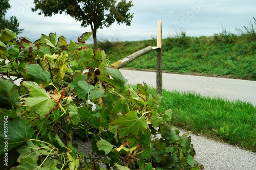
[[[219,76],[256,80],[256,42],[245,35],[216,34],[211,37],[187,37],[184,34],[163,39],[163,71],[178,74]],[[110,64],[148,45],[156,39],[143,41],[99,43]],[[156,51],[125,66],[132,69],[156,69]]]

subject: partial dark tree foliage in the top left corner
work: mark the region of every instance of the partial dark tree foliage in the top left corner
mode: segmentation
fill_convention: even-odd
[[[16,34],[22,33],[24,29],[19,29],[19,22],[16,16],[11,16],[10,20],[5,18],[5,14],[11,6],[9,0],[3,0],[0,4],[0,29],[8,28]]]

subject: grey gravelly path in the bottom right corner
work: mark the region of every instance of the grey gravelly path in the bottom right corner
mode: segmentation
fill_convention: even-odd
[[[195,160],[203,164],[205,170],[256,170],[255,153],[195,134],[189,136],[196,151]]]

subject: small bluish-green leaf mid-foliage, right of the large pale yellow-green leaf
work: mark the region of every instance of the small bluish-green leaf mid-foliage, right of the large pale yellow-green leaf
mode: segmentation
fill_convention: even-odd
[[[80,99],[87,96],[87,94],[92,92],[94,89],[93,85],[90,85],[87,81],[79,81],[77,84],[78,86],[74,88],[74,92]]]

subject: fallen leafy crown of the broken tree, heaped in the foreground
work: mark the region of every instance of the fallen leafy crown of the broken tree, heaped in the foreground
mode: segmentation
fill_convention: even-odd
[[[161,96],[127,86],[104,51],[87,47],[91,34],[33,43],[1,30],[9,79],[0,78],[0,155],[16,157],[1,169],[202,169],[190,137],[169,125],[172,111],[160,111]],[[96,155],[77,151],[74,138],[91,138]]]

